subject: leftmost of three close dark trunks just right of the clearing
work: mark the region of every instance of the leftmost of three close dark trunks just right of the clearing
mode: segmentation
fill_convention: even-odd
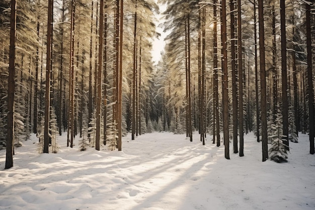
[[[223,138],[224,156],[229,159],[229,130],[228,130],[228,78],[227,78],[227,43],[226,43],[226,1],[222,0],[222,107],[223,107]]]

